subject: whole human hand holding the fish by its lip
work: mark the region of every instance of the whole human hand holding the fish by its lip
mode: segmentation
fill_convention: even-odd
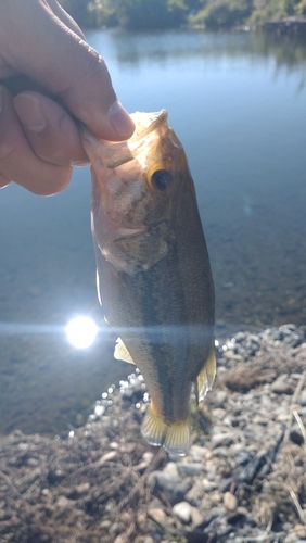
[[[63,190],[88,162],[75,118],[111,141],[133,131],[104,61],[56,0],[0,1],[0,188]]]

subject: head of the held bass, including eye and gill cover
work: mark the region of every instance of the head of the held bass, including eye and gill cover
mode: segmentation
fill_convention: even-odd
[[[92,164],[95,249],[119,270],[148,269],[174,239],[174,217],[188,168],[167,112],[131,114],[133,136],[120,143],[82,140]],[[141,253],[141,254],[140,254]]]

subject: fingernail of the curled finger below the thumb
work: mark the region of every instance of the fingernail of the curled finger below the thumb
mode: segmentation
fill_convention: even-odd
[[[22,125],[33,132],[41,132],[46,126],[40,102],[37,98],[25,92],[14,98],[14,106]]]

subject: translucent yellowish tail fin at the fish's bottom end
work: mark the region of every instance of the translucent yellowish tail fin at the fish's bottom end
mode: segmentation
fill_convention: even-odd
[[[166,422],[152,404],[148,406],[141,433],[150,445],[164,445],[173,456],[184,456],[189,450],[189,418]]]

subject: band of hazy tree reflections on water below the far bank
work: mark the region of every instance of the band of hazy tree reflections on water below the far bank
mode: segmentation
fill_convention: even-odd
[[[101,33],[91,33],[89,38],[99,49]],[[298,70],[301,81],[306,75],[306,40],[298,36],[275,36],[269,33],[212,34],[203,31],[173,30],[168,33],[128,34],[116,30],[112,35],[112,52],[124,68],[140,64],[163,63],[174,60],[201,59],[220,62],[221,59],[247,59],[248,65],[272,60],[276,70]],[[101,49],[103,53],[103,49]],[[106,58],[110,58],[109,54]]]

